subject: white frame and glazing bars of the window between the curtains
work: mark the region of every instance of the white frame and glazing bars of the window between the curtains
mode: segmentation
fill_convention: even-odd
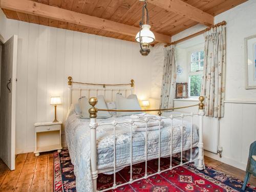
[[[199,52],[199,51],[204,52],[204,47],[200,46],[200,47],[191,49],[187,52],[187,56],[188,56],[188,97],[193,98],[193,99],[198,99],[198,96],[190,96],[190,76],[192,76],[192,75],[203,75],[203,70],[191,72],[191,54],[195,53],[195,52]],[[200,61],[201,60],[199,60],[199,67],[200,67]]]

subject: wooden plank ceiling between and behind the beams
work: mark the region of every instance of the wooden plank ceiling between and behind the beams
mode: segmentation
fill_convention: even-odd
[[[8,2],[8,1],[12,2],[9,4],[9,6],[3,5],[5,2]],[[21,8],[19,9],[19,7],[21,6],[18,5],[18,3],[23,1],[25,2],[25,0],[12,0],[12,1],[8,0],[8,1],[1,0],[1,8],[3,9],[5,15],[11,19],[22,20],[24,22],[29,22],[34,24],[68,29],[73,31],[80,31],[84,33],[91,33],[91,34],[96,34],[96,35],[101,35],[106,37],[113,37],[113,38],[118,38],[123,40],[129,40],[129,41],[134,41],[135,39],[133,35],[134,32],[129,33],[126,31],[129,31],[130,28],[132,31],[137,30],[136,28],[139,27],[139,21],[141,20],[141,14],[142,14],[141,11],[143,6],[143,2],[140,2],[139,0],[33,0],[33,2],[40,3],[40,5],[46,4],[46,5],[55,7],[55,9],[51,9],[52,12],[57,11],[58,13],[61,13],[60,9],[56,9],[56,8],[61,8],[61,9],[65,9],[65,11],[70,10],[69,12],[67,12],[67,15],[69,15],[69,13],[72,13],[71,11],[74,11],[77,13],[82,13],[84,15],[94,16],[94,17],[87,17],[87,19],[89,20],[85,20],[84,22],[81,22],[83,17],[80,18],[79,16],[83,16],[83,15],[79,14],[78,15],[79,20],[73,22],[73,20],[69,20],[67,18],[61,18],[58,20],[53,19],[58,17],[55,15],[53,15],[52,17],[48,13],[43,14],[45,17],[37,16],[37,15],[42,15],[41,13],[39,13],[39,11],[41,11],[39,9],[38,9],[39,10],[38,13],[36,12],[37,10],[36,11],[31,10],[31,12],[28,12],[25,10],[25,8],[24,8],[25,11],[22,10]],[[179,9],[179,8],[175,8],[175,6],[173,6],[172,3],[170,3],[171,2],[170,0],[148,0],[147,8],[149,11],[150,25],[151,25],[152,31],[154,33],[155,32],[159,33],[159,38],[164,39],[167,36],[175,35],[185,29],[195,26],[200,22],[200,21],[198,22],[197,18],[191,19],[191,17],[195,15],[194,14],[195,12],[190,10],[190,8],[193,8],[193,9],[196,9],[197,11],[202,12],[202,13],[196,12],[196,13],[199,13],[198,19],[200,19],[200,14],[205,14],[201,16],[202,18],[206,18],[207,16],[212,17],[228,9],[231,9],[239,4],[242,4],[246,1],[247,0],[172,0],[172,3],[176,2],[176,7],[182,6],[181,4],[183,4],[184,2],[183,6],[185,7],[181,7]],[[17,7],[12,8],[14,3],[16,2],[17,2]],[[26,1],[26,2],[30,2],[30,1]],[[166,4],[166,8],[165,8],[165,4]],[[168,6],[168,4],[171,4],[171,5]],[[38,5],[39,4],[34,4],[31,6],[35,8],[36,6],[38,7]],[[49,6],[46,8],[49,8]],[[185,9],[187,9],[186,12],[184,12]],[[19,11],[16,11],[16,10],[19,10]],[[31,14],[27,14],[27,13],[31,13]],[[62,12],[62,13],[66,14],[66,12]],[[73,15],[71,17],[73,18]],[[102,28],[88,27],[87,24],[90,23],[90,21],[92,19],[95,19],[96,17],[102,18],[101,20],[95,20],[96,23],[102,22],[102,23],[107,23],[108,25],[111,25],[111,26],[117,26],[117,23],[125,24],[125,25],[121,25],[122,28],[116,28],[114,30],[113,29],[108,30],[109,29],[108,27],[104,27],[104,29],[106,30],[103,30],[102,29],[103,27]],[[82,25],[78,25],[78,24],[82,24]],[[89,25],[89,26],[94,26],[94,25]],[[131,26],[133,26],[133,28]],[[120,29],[123,29],[122,33],[118,33],[120,32],[119,31]],[[161,34],[163,35],[161,36]],[[161,39],[158,41],[165,41]]]

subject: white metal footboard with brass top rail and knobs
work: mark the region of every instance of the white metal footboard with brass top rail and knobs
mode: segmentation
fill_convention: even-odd
[[[183,164],[187,164],[187,163],[190,163],[190,162],[193,162],[195,160],[198,160],[198,165],[197,165],[197,168],[202,170],[203,167],[204,167],[204,161],[203,161],[203,116],[204,116],[204,104],[203,104],[203,101],[204,101],[204,97],[199,97],[199,104],[196,104],[196,105],[189,105],[189,106],[183,106],[183,107],[180,107],[180,108],[172,108],[172,109],[157,109],[157,110],[106,110],[106,109],[96,109],[95,108],[95,105],[97,104],[97,98],[95,97],[92,97],[90,98],[89,100],[89,103],[92,105],[92,108],[90,108],[89,110],[89,113],[90,113],[90,132],[91,132],[91,172],[92,172],[92,180],[93,180],[93,190],[94,191],[97,191],[97,177],[98,177],[98,170],[97,170],[97,148],[96,148],[96,129],[98,126],[100,125],[106,125],[106,124],[112,124],[113,125],[113,132],[114,132],[114,136],[113,136],[113,139],[114,139],[114,165],[113,165],[113,170],[114,170],[114,183],[113,183],[113,186],[108,188],[108,189],[104,189],[104,190],[101,190],[101,191],[106,191],[106,190],[110,190],[110,189],[115,189],[119,186],[122,186],[122,185],[126,185],[126,184],[131,184],[135,181],[138,181],[138,180],[141,180],[141,179],[146,179],[150,176],[153,176],[153,175],[156,175],[156,174],[160,174],[162,172],[165,172],[166,170],[172,170],[173,168],[175,167],[178,167],[178,166],[182,166]],[[161,112],[162,111],[167,111],[167,110],[175,110],[175,109],[182,109],[182,108],[190,108],[190,107],[193,107],[193,106],[199,106],[199,110],[197,113],[191,113],[189,115],[184,115],[184,114],[181,114],[179,116],[173,116],[173,115],[170,115],[169,117],[161,117]],[[159,137],[158,137],[158,172],[157,173],[154,173],[154,174],[151,174],[151,175],[147,175],[147,123],[149,121],[149,119],[147,117],[145,117],[144,119],[142,120],[136,120],[136,122],[145,122],[145,175],[144,177],[142,178],[139,178],[139,179],[133,179],[133,172],[132,172],[132,167],[133,167],[133,142],[132,142],[132,138],[133,138],[133,123],[135,122],[134,119],[131,119],[129,121],[122,121],[122,122],[117,122],[117,121],[113,121],[112,123],[97,123],[96,122],[96,117],[97,117],[97,112],[98,111],[110,111],[110,112],[152,112],[152,111],[158,111],[158,117],[156,117],[154,120],[157,120],[159,122],[158,124],[158,134],[159,134]],[[198,141],[198,148],[199,148],[199,153],[198,153],[198,157],[196,159],[193,159],[192,158],[192,140],[193,140],[193,117],[194,116],[199,116],[199,141]],[[187,161],[187,162],[183,162],[182,160],[182,153],[183,153],[183,118],[186,117],[186,116],[189,116],[191,118],[191,127],[190,127],[190,159]],[[173,142],[172,142],[172,139],[173,139],[173,120],[174,118],[181,118],[181,158],[180,158],[180,163],[176,166],[172,166],[172,155],[173,155],[173,152],[172,152],[172,145],[173,145]],[[160,170],[160,158],[161,158],[161,120],[162,119],[170,119],[171,120],[171,125],[170,125],[170,166],[169,168],[165,169],[165,170]],[[116,126],[118,124],[122,124],[122,123],[129,123],[131,125],[131,135],[130,135],[130,168],[131,168],[131,175],[130,175],[130,181],[127,182],[127,183],[122,183],[120,185],[117,185],[116,184]]]

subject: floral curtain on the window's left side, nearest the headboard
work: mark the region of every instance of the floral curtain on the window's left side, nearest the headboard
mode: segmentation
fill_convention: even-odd
[[[164,67],[162,78],[160,108],[173,108],[177,78],[175,45],[164,48]]]

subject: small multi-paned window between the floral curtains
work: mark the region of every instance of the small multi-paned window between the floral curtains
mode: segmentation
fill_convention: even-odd
[[[202,74],[204,68],[204,51],[189,53],[189,96],[199,97],[201,92]]]

